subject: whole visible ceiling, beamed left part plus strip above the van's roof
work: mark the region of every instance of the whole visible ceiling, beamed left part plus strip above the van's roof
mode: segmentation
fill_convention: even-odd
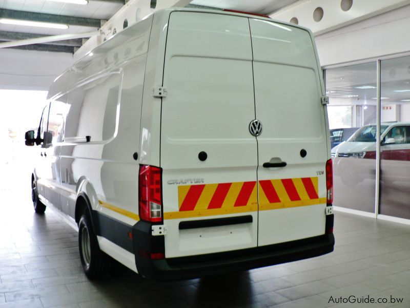
[[[151,0],[142,1],[149,2]],[[52,21],[69,25],[68,29],[51,29],[0,24],[0,42],[24,40],[44,35],[94,31],[100,28],[106,20],[109,20],[126,2],[128,1],[89,0],[87,5],[78,5],[50,0],[0,0],[0,18]],[[297,0],[193,0],[190,4],[270,14],[295,2]],[[76,38],[74,40],[12,48],[74,53],[82,44],[83,39]]]

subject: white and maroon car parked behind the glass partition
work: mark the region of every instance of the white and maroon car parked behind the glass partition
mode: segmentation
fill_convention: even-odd
[[[410,122],[381,123],[381,159],[410,160]],[[376,158],[376,125],[365,125],[332,148],[332,157]]]

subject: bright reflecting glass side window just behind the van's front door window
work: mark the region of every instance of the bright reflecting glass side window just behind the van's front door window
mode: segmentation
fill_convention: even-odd
[[[67,94],[50,103],[48,117],[48,132],[51,134],[51,143],[63,142],[64,122],[67,115]]]

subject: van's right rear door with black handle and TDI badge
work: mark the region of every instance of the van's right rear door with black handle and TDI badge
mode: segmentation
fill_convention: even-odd
[[[250,18],[258,141],[258,245],[325,233],[326,126],[308,31]]]

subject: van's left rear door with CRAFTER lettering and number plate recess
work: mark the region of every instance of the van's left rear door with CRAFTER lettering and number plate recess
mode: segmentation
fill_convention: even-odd
[[[248,18],[171,12],[161,152],[166,257],[257,246]]]

